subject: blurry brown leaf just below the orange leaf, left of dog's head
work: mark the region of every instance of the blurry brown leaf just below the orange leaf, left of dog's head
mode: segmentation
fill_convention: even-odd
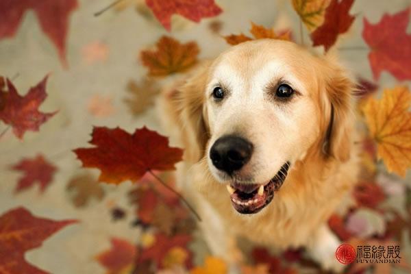
[[[149,79],[143,80],[141,84],[131,80],[127,84],[127,92],[130,96],[124,101],[132,114],[138,116],[154,105],[155,97],[160,93],[160,88]]]

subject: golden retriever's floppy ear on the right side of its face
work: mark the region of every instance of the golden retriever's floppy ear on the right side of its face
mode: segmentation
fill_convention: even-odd
[[[329,115],[323,153],[326,157],[345,162],[350,158],[351,132],[353,130],[353,113],[351,111],[351,94],[355,84],[351,81],[347,71],[336,62],[329,61],[325,90],[325,116]]]

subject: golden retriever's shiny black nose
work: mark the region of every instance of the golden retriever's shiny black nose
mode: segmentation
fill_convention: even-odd
[[[247,164],[251,153],[253,153],[251,142],[238,136],[228,135],[214,142],[210,149],[210,159],[217,169],[231,174]]]

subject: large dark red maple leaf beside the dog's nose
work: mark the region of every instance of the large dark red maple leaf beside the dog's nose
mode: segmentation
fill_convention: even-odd
[[[173,170],[182,160],[182,149],[169,147],[168,138],[147,127],[134,134],[116,127],[94,127],[90,144],[97,147],[75,149],[84,167],[101,170],[99,181],[120,184],[138,181],[147,171]]]

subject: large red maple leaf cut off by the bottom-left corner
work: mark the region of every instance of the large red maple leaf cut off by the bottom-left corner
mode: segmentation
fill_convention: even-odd
[[[0,273],[46,274],[25,261],[27,250],[40,247],[43,240],[75,220],[53,221],[15,208],[0,216]]]

